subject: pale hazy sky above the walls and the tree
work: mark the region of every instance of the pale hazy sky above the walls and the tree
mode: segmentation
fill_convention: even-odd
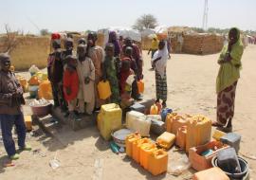
[[[132,27],[142,14],[161,26],[202,27],[205,0],[0,0],[0,33]],[[256,30],[256,0],[209,0],[208,27]]]

